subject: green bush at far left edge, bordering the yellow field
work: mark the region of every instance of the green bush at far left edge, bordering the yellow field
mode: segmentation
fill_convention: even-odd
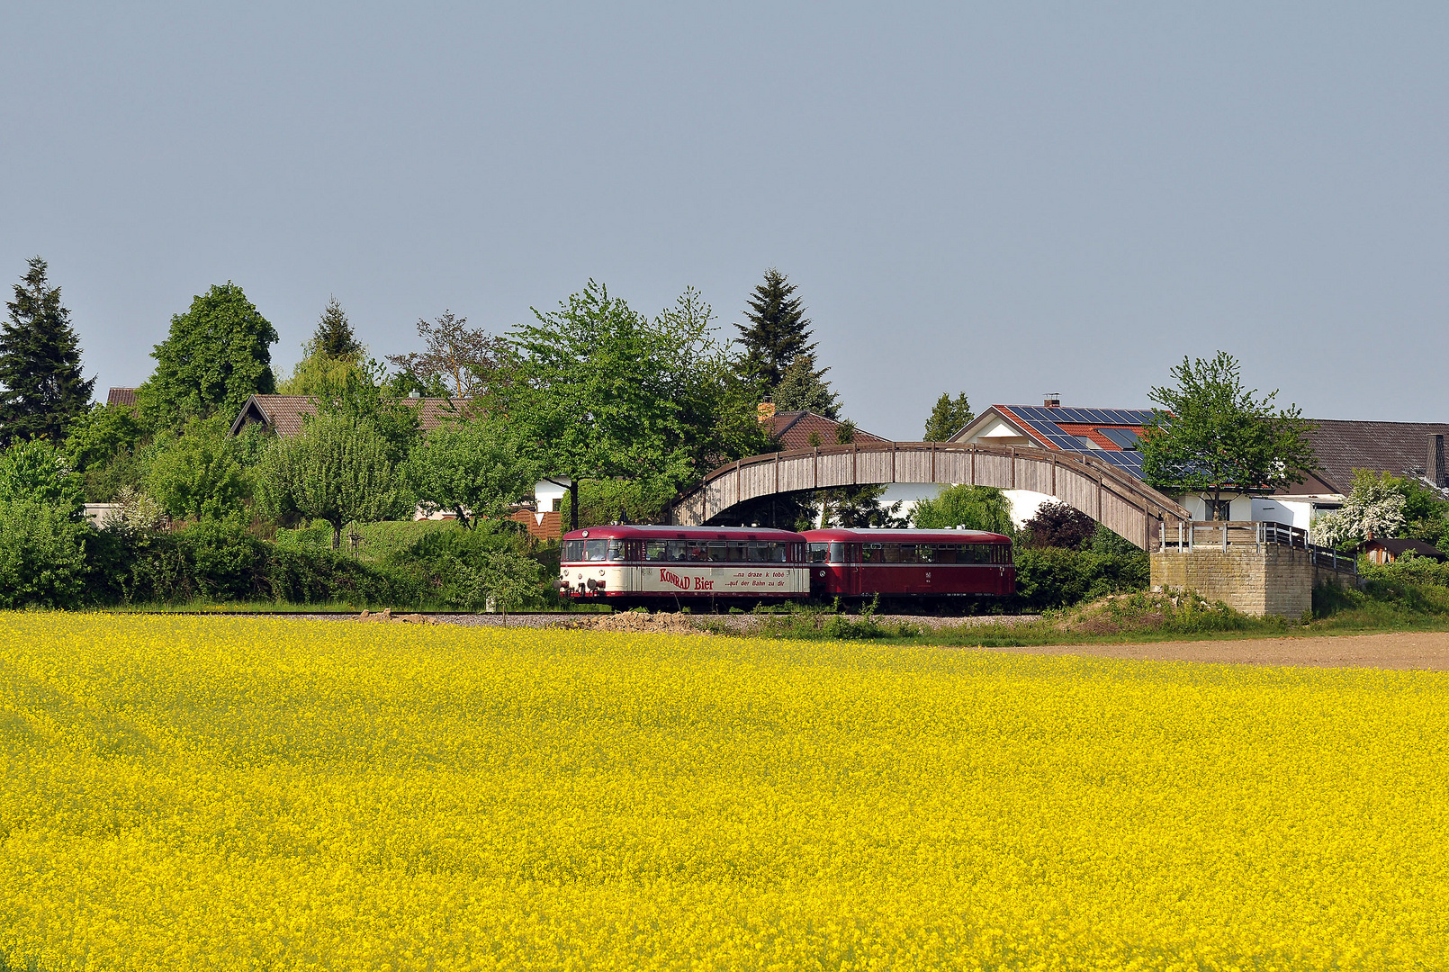
[[[90,532],[65,506],[0,495],[0,608],[78,603]]]

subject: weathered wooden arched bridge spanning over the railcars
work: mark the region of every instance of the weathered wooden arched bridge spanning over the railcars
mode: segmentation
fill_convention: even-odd
[[[714,469],[681,495],[671,519],[700,526],[729,507],[775,493],[882,482],[940,482],[1053,495],[1151,550],[1187,507],[1114,465],[1080,452],[951,442],[859,442],[749,456]]]

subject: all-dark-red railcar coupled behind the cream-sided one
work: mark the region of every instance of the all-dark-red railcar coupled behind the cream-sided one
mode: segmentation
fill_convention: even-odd
[[[806,530],[814,597],[1009,595],[1011,537],[977,530]]]

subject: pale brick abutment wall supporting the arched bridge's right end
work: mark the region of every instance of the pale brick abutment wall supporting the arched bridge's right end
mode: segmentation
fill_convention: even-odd
[[[1272,543],[1158,550],[1151,562],[1152,590],[1197,591],[1243,614],[1303,617],[1314,585],[1356,582],[1352,574],[1316,566],[1307,550]]]

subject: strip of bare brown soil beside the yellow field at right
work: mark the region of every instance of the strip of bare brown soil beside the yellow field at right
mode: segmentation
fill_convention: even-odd
[[[1240,642],[1158,642],[1153,645],[1043,645],[987,650],[1132,658],[1156,662],[1449,671],[1449,632],[1261,637]]]

